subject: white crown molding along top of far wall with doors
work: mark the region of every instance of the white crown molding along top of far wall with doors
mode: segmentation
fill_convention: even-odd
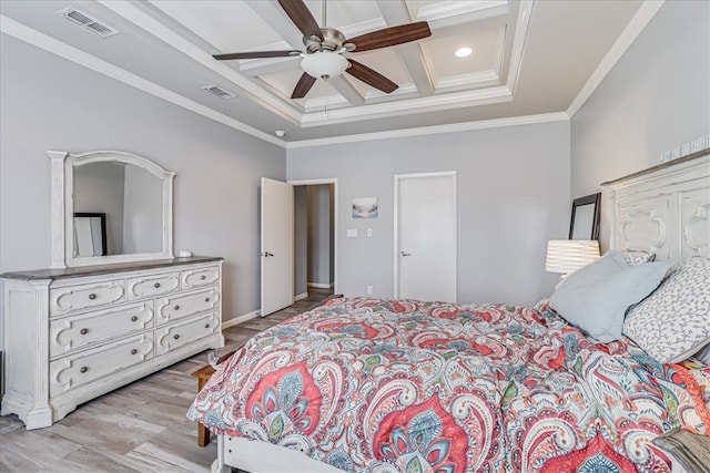
[[[448,125],[419,126],[415,128],[392,130],[388,132],[362,133],[357,135],[334,136],[329,138],[301,140],[286,144],[287,150],[334,144],[369,142],[408,136],[436,135],[442,133],[468,132],[473,130],[498,128],[503,126],[531,125],[538,123],[569,121],[566,112],[542,113],[539,115],[511,116],[507,119],[481,120],[478,122],[453,123]]]

